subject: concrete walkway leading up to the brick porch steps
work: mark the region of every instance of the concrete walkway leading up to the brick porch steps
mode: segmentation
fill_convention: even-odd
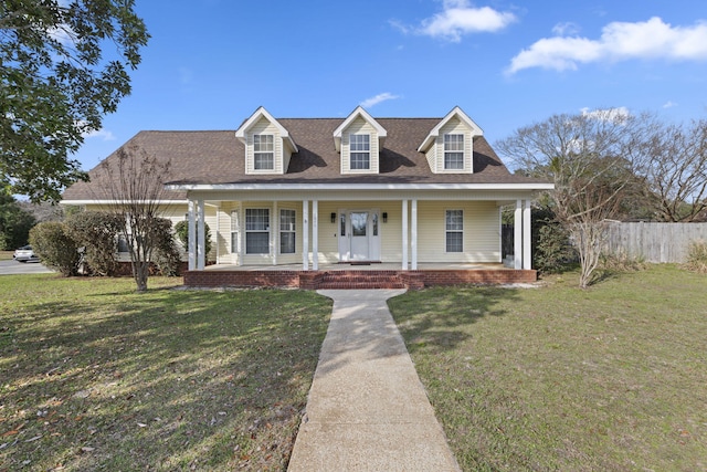
[[[323,290],[334,312],[289,472],[460,468],[386,301],[404,290]]]

